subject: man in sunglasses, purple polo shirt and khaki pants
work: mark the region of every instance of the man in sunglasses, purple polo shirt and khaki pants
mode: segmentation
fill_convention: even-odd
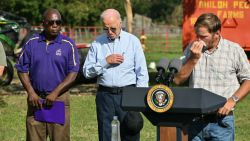
[[[28,93],[26,119],[27,140],[70,140],[69,93],[70,85],[79,70],[75,43],[60,34],[61,15],[56,9],[43,14],[44,31],[31,37],[23,46],[17,64],[18,76]],[[44,103],[41,103],[44,99]],[[59,100],[65,104],[65,124],[36,121],[34,111],[53,106]]]

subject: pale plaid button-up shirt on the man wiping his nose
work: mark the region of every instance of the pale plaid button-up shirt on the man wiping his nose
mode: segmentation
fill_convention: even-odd
[[[189,45],[183,63],[190,56]],[[189,87],[204,88],[225,98],[231,97],[244,80],[250,80],[250,64],[244,50],[221,38],[213,52],[205,51],[189,78]]]

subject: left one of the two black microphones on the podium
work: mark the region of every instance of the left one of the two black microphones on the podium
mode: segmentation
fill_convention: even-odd
[[[169,65],[169,60],[166,58],[160,59],[160,61],[156,65],[157,74],[155,77],[155,81],[157,83],[160,83],[161,81],[165,80],[164,73],[165,71],[168,70],[168,65]]]

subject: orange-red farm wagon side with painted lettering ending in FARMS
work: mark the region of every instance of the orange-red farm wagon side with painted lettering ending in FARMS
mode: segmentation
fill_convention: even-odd
[[[216,14],[222,23],[222,36],[250,51],[250,0],[184,0],[183,48],[195,39],[194,23],[203,13]]]

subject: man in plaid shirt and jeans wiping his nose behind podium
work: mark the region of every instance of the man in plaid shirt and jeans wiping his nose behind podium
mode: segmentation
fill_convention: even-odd
[[[250,65],[244,50],[221,36],[221,21],[212,13],[196,21],[197,39],[184,51],[183,66],[174,83],[186,80],[191,88],[203,88],[223,96],[227,102],[213,118],[194,120],[188,127],[191,141],[234,141],[236,104],[250,91]]]

